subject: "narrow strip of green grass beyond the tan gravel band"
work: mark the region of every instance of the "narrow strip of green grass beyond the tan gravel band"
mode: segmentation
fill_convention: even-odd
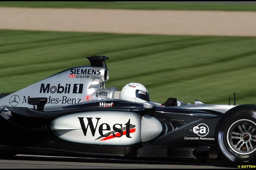
[[[32,8],[101,8],[138,10],[222,10],[256,11],[255,4],[211,4],[211,3],[123,3],[86,1],[1,1],[0,6]]]

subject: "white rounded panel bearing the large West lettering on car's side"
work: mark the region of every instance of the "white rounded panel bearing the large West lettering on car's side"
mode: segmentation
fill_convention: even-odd
[[[141,116],[125,111],[90,111],[64,115],[50,129],[66,141],[99,145],[132,145],[141,142]]]

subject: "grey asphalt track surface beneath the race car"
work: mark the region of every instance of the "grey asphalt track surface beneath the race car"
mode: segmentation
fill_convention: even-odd
[[[123,159],[71,158],[17,155],[0,159],[0,168],[231,168],[227,164],[176,163]]]

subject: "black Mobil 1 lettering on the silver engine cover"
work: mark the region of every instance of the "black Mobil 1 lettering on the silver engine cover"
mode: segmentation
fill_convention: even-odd
[[[73,93],[83,93],[84,84],[74,84]],[[41,84],[40,93],[70,93],[71,84],[66,84],[65,86],[51,86],[51,84]]]

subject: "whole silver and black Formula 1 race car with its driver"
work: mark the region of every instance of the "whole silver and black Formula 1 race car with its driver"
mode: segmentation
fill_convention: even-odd
[[[174,106],[129,83],[105,88],[106,56],[1,94],[0,153],[219,159],[256,158],[256,106]]]

